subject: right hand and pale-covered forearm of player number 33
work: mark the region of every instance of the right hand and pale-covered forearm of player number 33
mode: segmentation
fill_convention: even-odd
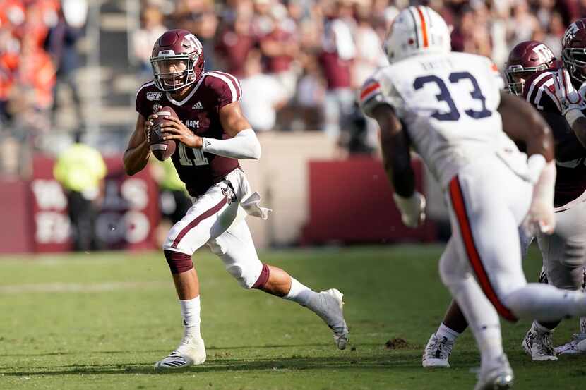
[[[533,186],[531,206],[523,228],[527,234],[551,234],[556,228],[556,214],[554,213],[554,185],[556,183],[556,164],[552,160],[542,170],[539,180]]]

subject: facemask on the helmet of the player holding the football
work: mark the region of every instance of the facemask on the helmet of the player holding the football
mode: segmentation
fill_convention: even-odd
[[[162,91],[177,91],[196,82],[197,53],[174,54],[161,51],[150,58],[155,85]]]

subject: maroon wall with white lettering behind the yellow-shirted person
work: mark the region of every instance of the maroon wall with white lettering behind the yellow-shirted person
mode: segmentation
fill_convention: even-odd
[[[105,162],[108,176],[96,221],[97,236],[107,249],[154,248],[154,231],[160,218],[157,184],[148,170],[126,176],[121,157]],[[4,226],[0,252],[71,249],[67,198],[53,178],[53,164],[53,159],[37,156],[32,180],[1,183],[0,217]]]

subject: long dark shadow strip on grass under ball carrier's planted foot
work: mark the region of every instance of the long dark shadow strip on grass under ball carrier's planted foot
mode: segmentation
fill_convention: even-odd
[[[417,353],[418,355],[418,353]],[[395,368],[421,370],[421,363],[415,358],[415,353],[402,353],[400,355],[376,355],[376,356],[328,356],[328,357],[306,357],[292,356],[291,358],[255,358],[229,359],[218,358],[209,360],[204,365],[197,367],[186,367],[179,370],[155,371],[153,364],[117,363],[117,364],[88,364],[68,365],[60,367],[39,367],[44,370],[27,370],[4,372],[5,376],[13,377],[34,377],[34,376],[59,376],[78,374],[178,374],[189,372],[239,372],[271,370],[275,372],[287,372],[296,370],[335,370],[335,369],[358,369],[358,370],[389,370]]]

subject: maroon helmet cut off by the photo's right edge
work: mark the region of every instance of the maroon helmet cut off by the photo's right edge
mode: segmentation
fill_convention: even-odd
[[[563,33],[561,60],[574,80],[586,81],[586,18],[576,20]]]

